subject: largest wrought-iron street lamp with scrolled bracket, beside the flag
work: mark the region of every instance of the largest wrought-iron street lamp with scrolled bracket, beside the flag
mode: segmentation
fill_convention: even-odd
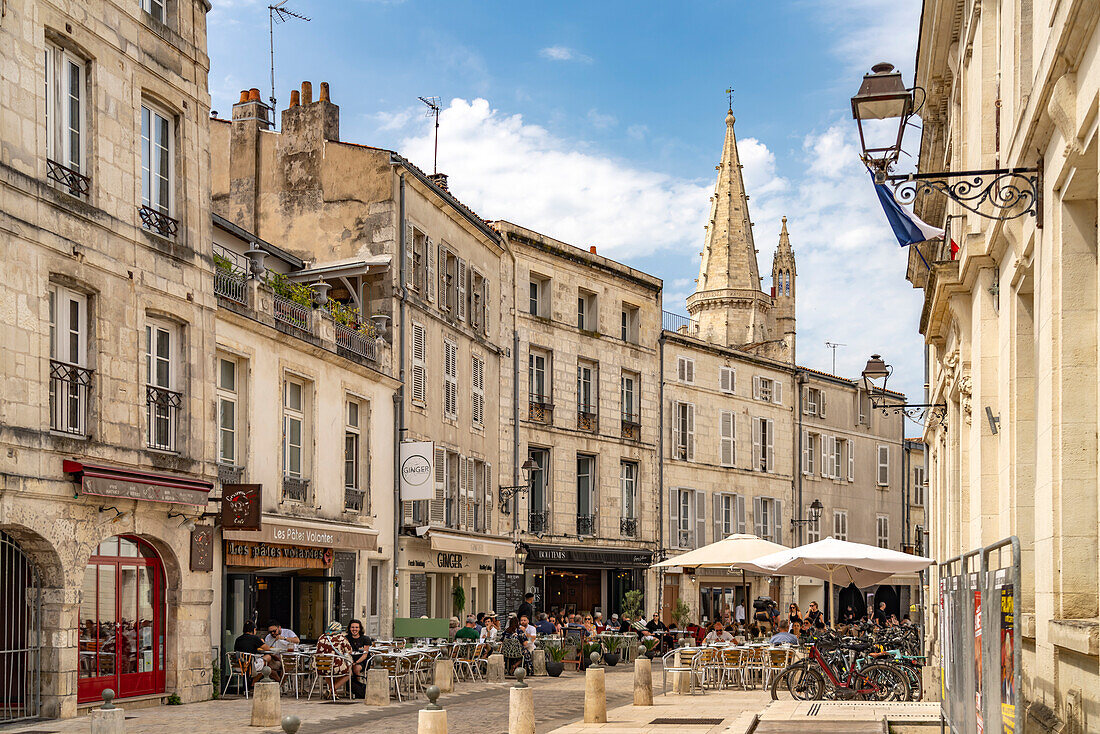
[[[919,106],[914,105],[916,91],[922,96]],[[921,87],[906,89],[892,64],[876,64],[870,74],[864,75],[859,91],[851,98],[851,117],[859,128],[860,157],[875,174],[875,182],[890,184],[901,204],[911,204],[919,194],[938,191],[987,219],[1015,219],[1030,213],[1042,227],[1040,167],[890,173],[902,153],[905,128],[924,106],[925,94]],[[879,120],[895,120],[897,131]],[[867,122],[870,124],[865,127]]]

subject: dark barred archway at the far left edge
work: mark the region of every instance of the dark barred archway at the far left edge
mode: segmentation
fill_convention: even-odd
[[[33,719],[41,704],[38,573],[0,530],[0,724]]]

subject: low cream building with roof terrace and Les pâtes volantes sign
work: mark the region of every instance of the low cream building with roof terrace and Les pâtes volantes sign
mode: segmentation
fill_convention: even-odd
[[[298,258],[218,216],[213,254],[219,489],[231,503],[257,493],[261,529],[219,528],[213,561],[226,588],[211,607],[220,633],[211,644],[232,649],[245,620],[277,618],[302,639],[332,620],[388,634],[398,383],[384,373],[388,343],[332,295],[350,303],[360,280],[383,277],[388,265],[329,267],[326,282],[342,287],[322,304],[316,271],[324,264],[311,276]],[[265,272],[253,269],[260,261]],[[292,278],[314,287],[288,288]],[[312,307],[287,294],[312,296]]]

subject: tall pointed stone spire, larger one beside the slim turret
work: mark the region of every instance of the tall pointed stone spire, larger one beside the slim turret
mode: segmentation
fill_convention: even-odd
[[[772,339],[771,299],[760,289],[760,267],[752,242],[749,197],[745,193],[734,112],[726,114],[726,140],[711,198],[703,262],[688,313],[700,336],[727,347]]]

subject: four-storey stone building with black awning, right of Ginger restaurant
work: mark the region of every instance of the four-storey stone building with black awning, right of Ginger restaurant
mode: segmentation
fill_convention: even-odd
[[[657,591],[662,284],[595,248],[494,224],[515,258],[518,403],[502,414],[502,452],[538,467],[499,529],[528,545],[538,611],[620,613],[627,591]]]

